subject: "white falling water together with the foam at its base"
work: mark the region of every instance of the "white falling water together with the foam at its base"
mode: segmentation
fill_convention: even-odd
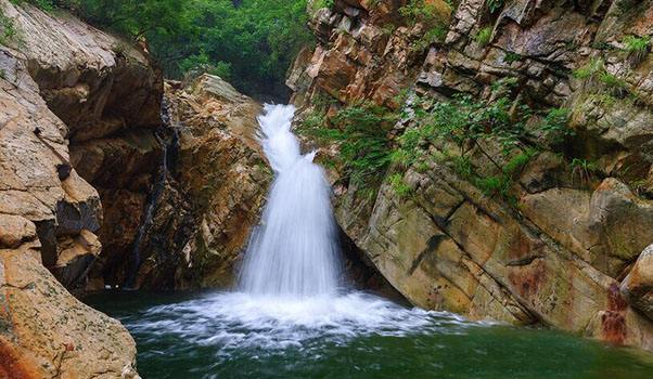
[[[312,162],[315,154],[299,153],[291,132],[294,108],[266,105],[265,112],[259,117],[261,143],[276,179],[246,251],[239,290],[154,306],[129,322],[130,330],[217,347],[219,357],[229,360],[244,349],[260,354],[261,349],[312,350],[361,336],[463,332],[472,325],[449,313],[338,290],[340,251],[329,184]]]

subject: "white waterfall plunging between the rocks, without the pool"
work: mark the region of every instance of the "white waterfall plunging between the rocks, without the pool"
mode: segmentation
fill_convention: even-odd
[[[331,208],[331,187],[302,155],[291,131],[292,105],[265,106],[258,122],[274,182],[254,231],[240,274],[241,290],[278,297],[333,296],[337,292],[340,251]]]

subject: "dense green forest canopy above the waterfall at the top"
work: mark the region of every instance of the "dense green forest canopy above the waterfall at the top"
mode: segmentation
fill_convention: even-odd
[[[307,0],[29,0],[142,40],[168,78],[208,71],[256,97],[287,95],[285,73],[311,37]]]

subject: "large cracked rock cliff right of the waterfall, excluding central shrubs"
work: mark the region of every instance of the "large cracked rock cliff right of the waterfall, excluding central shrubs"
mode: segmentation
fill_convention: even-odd
[[[653,55],[624,50],[626,36],[651,35],[653,3],[515,0],[490,10],[463,0],[450,19],[440,15],[445,36],[425,47],[423,23],[396,12],[407,1],[382,3],[311,11],[320,43],[289,73],[300,114],[324,97],[333,99],[326,118],[361,101],[400,107],[408,112],[393,141],[423,127],[410,110],[414,97],[397,103],[396,94],[488,100],[492,84],[510,78],[532,108],[568,108],[574,134],[525,142],[543,147],[507,188],[510,200],[437,159],[457,154],[445,141],[423,146],[431,158],[419,166],[392,165],[372,199],[336,166],[330,177],[344,232],[414,304],[653,350],[650,254],[642,253],[653,241]],[[469,152],[472,168],[502,174],[508,158],[491,141],[483,148]],[[397,175],[409,196],[393,190]]]

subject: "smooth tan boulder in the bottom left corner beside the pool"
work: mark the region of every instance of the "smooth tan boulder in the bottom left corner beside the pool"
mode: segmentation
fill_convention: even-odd
[[[136,378],[136,343],[39,263],[38,241],[0,250],[0,376]]]

